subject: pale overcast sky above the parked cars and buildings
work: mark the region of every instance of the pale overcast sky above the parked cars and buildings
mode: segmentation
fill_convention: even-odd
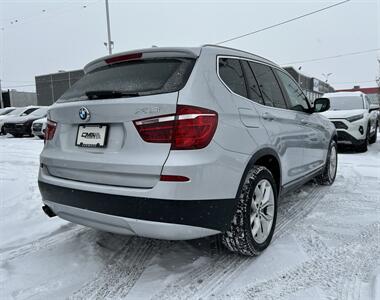
[[[110,0],[114,52],[216,43],[339,1]],[[0,0],[0,35],[2,87],[34,90],[35,75],[80,69],[107,54],[104,0]],[[351,0],[225,46],[280,65],[380,48],[380,0]],[[335,88],[369,87],[379,76],[377,59],[380,51],[294,66],[320,79],[332,73]]]

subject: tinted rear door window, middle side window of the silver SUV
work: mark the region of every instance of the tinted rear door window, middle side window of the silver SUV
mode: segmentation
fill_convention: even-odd
[[[259,82],[265,105],[286,108],[284,96],[282,95],[280,86],[278,85],[272,69],[268,66],[253,62],[250,62],[249,65]]]

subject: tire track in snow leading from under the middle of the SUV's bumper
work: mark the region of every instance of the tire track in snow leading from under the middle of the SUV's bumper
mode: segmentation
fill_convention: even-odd
[[[106,266],[69,299],[124,299],[159,250],[168,241],[131,237]]]

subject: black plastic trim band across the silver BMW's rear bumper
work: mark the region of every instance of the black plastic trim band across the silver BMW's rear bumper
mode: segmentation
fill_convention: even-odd
[[[38,182],[42,198],[50,202],[103,214],[154,222],[227,230],[235,199],[164,200],[76,190]]]

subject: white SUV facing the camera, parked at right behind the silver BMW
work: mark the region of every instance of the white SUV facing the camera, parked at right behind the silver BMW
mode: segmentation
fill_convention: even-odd
[[[330,119],[338,131],[338,144],[354,146],[365,152],[377,139],[377,107],[371,106],[362,92],[327,93],[330,110],[322,113]]]

